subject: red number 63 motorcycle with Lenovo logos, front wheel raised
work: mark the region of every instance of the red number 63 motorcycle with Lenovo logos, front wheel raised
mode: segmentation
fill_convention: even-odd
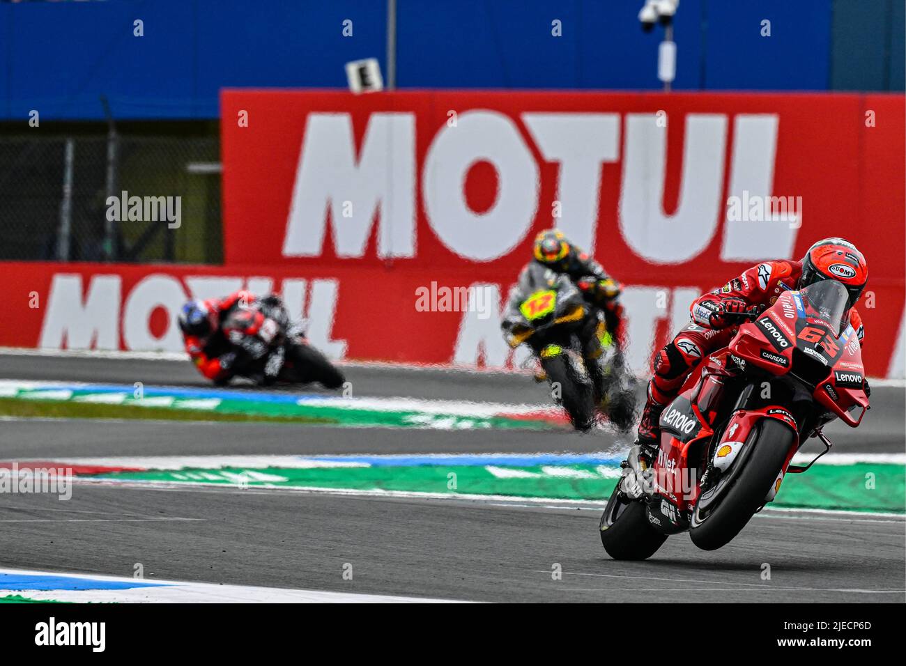
[[[788,291],[700,363],[661,413],[651,469],[637,449],[623,463],[601,517],[609,555],[645,559],[687,530],[704,550],[728,544],[776,497],[786,474],[805,472],[831,448],[825,423],[859,425],[869,402],[848,312],[838,282]],[[809,437],[824,451],[804,467],[791,465]],[[641,493],[627,492],[633,486]]]

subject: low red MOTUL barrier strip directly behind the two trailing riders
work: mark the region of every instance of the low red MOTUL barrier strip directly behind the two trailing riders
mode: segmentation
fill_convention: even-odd
[[[510,286],[462,269],[426,283],[407,268],[246,271],[210,266],[6,264],[16,326],[5,346],[49,349],[181,351],[176,326],[189,297],[209,298],[247,288],[282,293],[295,317],[308,320],[312,343],[334,358],[416,364],[510,367],[513,357],[499,328]],[[624,293],[631,365],[644,373],[651,349],[689,319],[689,301],[702,286],[630,285]],[[901,290],[879,288],[881,303]],[[866,320],[878,321],[869,310]],[[871,313],[871,314],[868,314]],[[883,321],[883,320],[880,320]],[[878,343],[866,323],[863,354],[872,376],[901,376],[898,351]],[[872,339],[873,336],[873,339]]]

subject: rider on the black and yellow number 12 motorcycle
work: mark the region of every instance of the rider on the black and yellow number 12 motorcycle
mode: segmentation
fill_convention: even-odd
[[[616,282],[603,266],[592,256],[585,254],[581,249],[567,240],[559,229],[547,229],[535,236],[535,246],[532,254],[534,261],[560,275],[567,275],[573,284],[583,293],[586,301],[599,307],[604,314],[607,334],[619,344],[622,343],[622,305],[620,294],[622,285]],[[519,275],[519,283],[523,282],[528,270],[526,266]],[[518,289],[510,294],[506,304],[504,321],[508,313],[517,313],[519,309]],[[604,352],[604,341],[599,336],[597,323],[590,319],[585,330],[580,333],[583,345],[583,358],[590,369],[596,371],[595,361]]]

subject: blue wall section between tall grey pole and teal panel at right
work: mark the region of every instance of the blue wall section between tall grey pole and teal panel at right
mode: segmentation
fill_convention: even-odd
[[[870,1],[870,0],[869,0]],[[658,89],[633,0],[400,0],[400,84]],[[551,21],[563,36],[551,36]],[[771,36],[761,36],[761,21]],[[452,26],[455,26],[453,28]],[[682,0],[677,89],[823,90],[831,0]],[[790,66],[795,63],[795,66]]]

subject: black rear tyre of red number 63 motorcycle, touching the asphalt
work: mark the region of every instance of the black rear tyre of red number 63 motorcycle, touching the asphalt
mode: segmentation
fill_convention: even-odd
[[[601,516],[601,543],[607,555],[615,560],[645,560],[667,541],[648,523],[645,505],[639,500],[620,497],[619,485]]]

